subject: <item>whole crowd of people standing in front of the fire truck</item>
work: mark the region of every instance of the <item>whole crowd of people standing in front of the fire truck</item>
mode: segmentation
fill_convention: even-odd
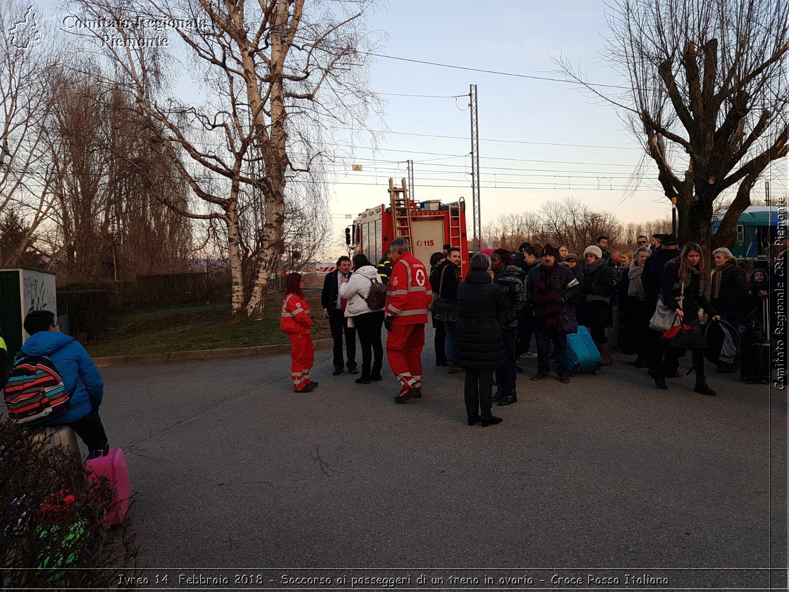
[[[581,257],[564,245],[529,242],[517,253],[484,249],[471,255],[465,277],[460,250],[451,245],[430,257],[429,270],[409,252],[405,238],[394,239],[377,265],[362,254],[340,257],[321,294],[334,340],[334,374],[359,373],[358,335],[362,360],[356,382],[383,380],[383,325],[387,361],[399,383],[395,403],[420,398],[430,313],[436,366],[465,373],[469,425],[495,425],[502,420],[492,414],[492,405],[518,402],[519,359],[537,358],[530,380],[547,379],[553,367],[559,382],[570,383],[567,335],[578,325],[588,329],[602,366],[613,363],[608,340],[613,329],[619,349],[635,355],[628,365],[647,369],[656,388],[667,389],[667,379],[682,376],[680,358],[686,352],[666,346],[655,317],[667,314],[674,317],[669,326],[703,332],[702,316],[737,328],[765,306],[767,274],[753,272],[749,285],[729,249],[715,249],[708,270],[701,246],[689,242],[680,249],[673,234],[640,236],[632,249],[609,249],[608,242],[600,236]],[[383,286],[385,298],[374,298]],[[309,392],[317,383],[310,378],[312,320],[301,275],[290,274],[286,287],[282,331],[294,344],[291,377],[296,392]],[[690,350],[690,358],[694,392],[715,395],[707,384],[704,350]],[[736,357],[722,360],[717,372],[734,372],[736,365]]]

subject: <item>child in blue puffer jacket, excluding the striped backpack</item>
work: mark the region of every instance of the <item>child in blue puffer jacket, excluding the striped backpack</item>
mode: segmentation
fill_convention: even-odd
[[[65,413],[39,425],[70,425],[92,455],[107,452],[107,434],[99,417],[104,395],[104,380],[82,344],[60,332],[50,310],[34,310],[24,317],[24,330],[30,337],[22,345],[21,356],[47,356],[60,373],[66,391],[71,393]],[[92,455],[88,455],[91,458]]]

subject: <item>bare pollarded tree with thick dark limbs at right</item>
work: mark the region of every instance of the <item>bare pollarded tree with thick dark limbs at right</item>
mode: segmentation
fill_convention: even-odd
[[[731,245],[765,167],[787,155],[785,0],[617,0],[608,59],[631,87],[604,96],[567,59],[563,73],[623,110],[675,199],[679,238]],[[711,238],[715,200],[736,191]]]

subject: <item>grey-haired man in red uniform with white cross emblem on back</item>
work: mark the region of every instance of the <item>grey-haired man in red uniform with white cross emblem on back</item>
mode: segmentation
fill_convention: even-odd
[[[383,311],[387,337],[387,360],[400,381],[394,403],[422,396],[422,347],[424,324],[428,322],[428,302],[432,298],[428,272],[408,250],[406,238],[395,238],[389,246],[392,274],[387,285]]]

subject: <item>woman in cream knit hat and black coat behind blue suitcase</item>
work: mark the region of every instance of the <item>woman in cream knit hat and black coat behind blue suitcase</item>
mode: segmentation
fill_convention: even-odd
[[[589,329],[589,335],[600,350],[603,365],[611,365],[611,347],[605,329],[614,326],[614,307],[611,294],[616,288],[616,269],[603,259],[600,247],[591,245],[584,249],[584,281],[581,294],[584,305],[578,323]]]

